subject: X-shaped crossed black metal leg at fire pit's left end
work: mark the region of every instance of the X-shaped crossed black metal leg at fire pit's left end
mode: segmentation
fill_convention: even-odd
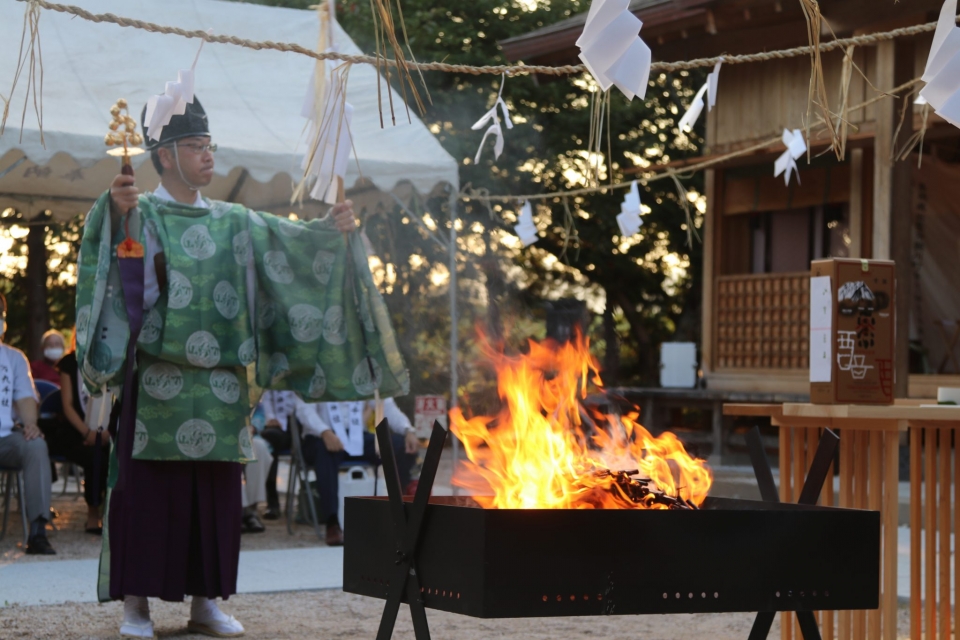
[[[440,456],[443,453],[443,443],[446,437],[447,431],[440,426],[439,422],[434,422],[430,444],[427,446],[427,454],[420,471],[417,493],[413,498],[408,517],[400,489],[400,476],[397,473],[393,441],[390,439],[390,426],[386,420],[377,426],[377,440],[380,443],[383,477],[387,484],[387,495],[390,500],[390,513],[393,518],[394,540],[397,550],[397,573],[390,585],[387,601],[383,607],[377,640],[390,640],[393,635],[397,614],[400,611],[400,601],[404,592],[407,594],[407,603],[410,605],[413,630],[417,640],[430,640],[427,612],[420,595],[416,553],[423,518],[427,510],[427,502],[430,500],[430,492],[433,490],[433,483],[437,477],[437,467],[440,465]]]

